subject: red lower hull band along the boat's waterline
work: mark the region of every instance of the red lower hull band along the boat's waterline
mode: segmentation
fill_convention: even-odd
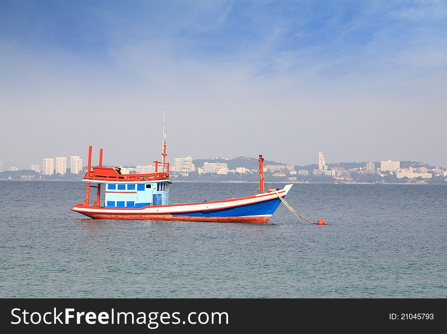
[[[267,223],[270,217],[189,217],[172,216],[171,214],[109,214],[103,212],[79,212],[92,219],[113,219],[113,220],[155,220],[155,221],[186,221],[186,222],[216,222],[216,223]]]

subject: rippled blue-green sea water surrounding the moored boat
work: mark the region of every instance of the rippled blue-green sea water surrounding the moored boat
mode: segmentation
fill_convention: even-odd
[[[257,187],[174,183],[170,201]],[[447,297],[447,186],[295,184],[326,226],[282,204],[268,224],[99,221],[70,211],[81,182],[0,190],[0,297]]]

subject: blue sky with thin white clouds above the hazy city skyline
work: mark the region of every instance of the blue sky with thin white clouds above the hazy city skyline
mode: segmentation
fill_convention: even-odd
[[[445,1],[0,2],[0,161],[447,166]],[[86,161],[86,160],[85,160]]]

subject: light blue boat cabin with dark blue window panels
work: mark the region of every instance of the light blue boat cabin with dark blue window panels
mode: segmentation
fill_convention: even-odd
[[[154,205],[154,195],[161,195],[161,204],[169,201],[168,182],[106,184],[105,207],[141,208]],[[159,199],[159,196],[155,196]],[[157,201],[158,202],[158,201]],[[155,203],[158,204],[158,203]]]

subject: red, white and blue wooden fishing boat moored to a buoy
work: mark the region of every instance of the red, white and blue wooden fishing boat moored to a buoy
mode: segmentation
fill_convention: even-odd
[[[201,221],[267,223],[292,185],[282,190],[264,188],[262,155],[259,156],[260,193],[241,198],[193,203],[169,203],[169,162],[166,163],[166,133],[163,136],[163,159],[154,161],[155,173],[122,174],[117,167],[103,167],[103,149],[100,149],[98,166],[91,166],[88,147],[86,195],[82,204],[71,210],[92,219],[152,220],[152,221]],[[96,188],[96,199],[90,205],[90,190]],[[105,191],[101,205],[101,192]]]

